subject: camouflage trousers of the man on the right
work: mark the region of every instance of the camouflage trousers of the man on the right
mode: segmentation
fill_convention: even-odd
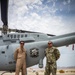
[[[56,75],[56,71],[57,71],[56,63],[53,63],[53,64],[47,63],[46,67],[45,67],[44,75],[50,75],[51,73],[52,73],[52,75]]]

